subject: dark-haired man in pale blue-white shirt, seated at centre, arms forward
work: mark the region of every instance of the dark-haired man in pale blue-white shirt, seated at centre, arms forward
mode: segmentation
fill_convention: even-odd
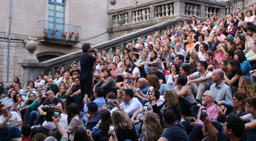
[[[113,104],[114,107],[110,113],[121,110],[126,116],[132,116],[134,112],[139,110],[142,107],[142,104],[138,100],[138,98],[134,97],[134,92],[132,89],[127,88],[123,92],[123,102],[119,104],[117,100],[115,100],[116,104]]]

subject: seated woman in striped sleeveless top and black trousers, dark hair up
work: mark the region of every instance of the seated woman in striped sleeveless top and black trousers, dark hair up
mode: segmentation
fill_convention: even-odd
[[[175,77],[175,76],[174,76]],[[185,120],[185,115],[191,115],[191,107],[196,104],[196,100],[191,90],[186,86],[187,77],[179,75],[175,77],[175,87],[173,88],[179,98],[181,117]]]

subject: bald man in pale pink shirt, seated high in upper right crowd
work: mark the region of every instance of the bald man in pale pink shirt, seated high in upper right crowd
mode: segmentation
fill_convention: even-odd
[[[219,43],[224,43],[224,39],[227,38],[224,34],[221,33],[221,29],[217,28],[215,32],[215,34],[211,35],[211,42],[214,42],[214,44],[211,49],[209,48],[209,50],[211,50],[212,52],[217,49],[217,45]]]

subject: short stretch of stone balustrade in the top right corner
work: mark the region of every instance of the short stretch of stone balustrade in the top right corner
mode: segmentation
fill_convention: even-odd
[[[229,13],[233,13],[235,8],[240,8],[241,10],[244,8],[248,8],[248,6],[255,4],[256,1],[255,0],[229,0],[226,3],[227,3],[226,14],[229,14]]]

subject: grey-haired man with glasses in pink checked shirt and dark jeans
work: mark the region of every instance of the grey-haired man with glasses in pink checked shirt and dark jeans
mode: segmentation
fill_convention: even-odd
[[[202,99],[202,106],[199,108],[199,106],[192,106],[191,111],[193,112],[194,116],[197,116],[197,120],[195,122],[187,122],[183,121],[182,125],[185,127],[188,138],[191,141],[195,141],[197,139],[203,138],[203,132],[202,132],[202,125],[203,122],[200,120],[201,115],[201,109],[207,108],[207,114],[209,115],[210,120],[216,120],[217,119],[217,110],[214,104],[215,100],[215,93],[213,93],[210,90],[207,90],[204,92]],[[197,110],[199,108],[199,110]]]

